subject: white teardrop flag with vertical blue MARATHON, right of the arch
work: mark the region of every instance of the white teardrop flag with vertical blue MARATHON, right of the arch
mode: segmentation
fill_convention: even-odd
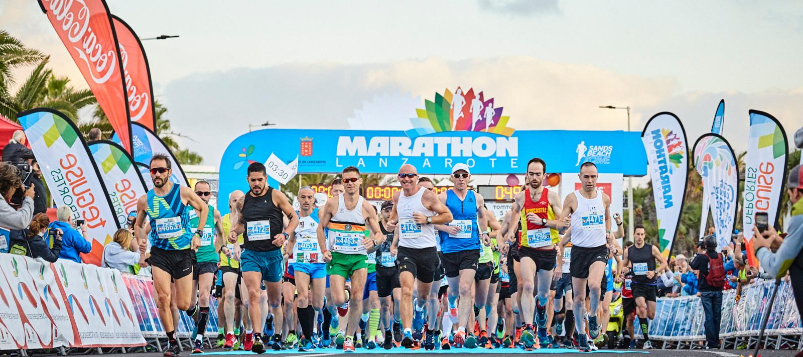
[[[661,254],[668,258],[686,196],[689,148],[686,130],[673,113],[655,114],[642,132],[647,154],[647,170],[652,179],[658,242]]]

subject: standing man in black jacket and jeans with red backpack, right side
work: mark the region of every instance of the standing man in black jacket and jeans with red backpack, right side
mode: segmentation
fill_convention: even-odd
[[[700,292],[700,302],[703,303],[705,313],[705,336],[706,348],[719,348],[719,322],[722,317],[722,286],[712,286],[708,284],[707,276],[712,268],[711,260],[721,260],[722,256],[716,252],[716,238],[706,236],[703,239],[703,247],[698,248],[698,254],[691,261],[691,269],[699,271],[697,277],[697,287]],[[722,281],[724,285],[724,281]]]

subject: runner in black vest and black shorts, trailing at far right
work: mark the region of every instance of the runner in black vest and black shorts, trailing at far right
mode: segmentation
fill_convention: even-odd
[[[633,232],[635,244],[625,251],[619,274],[622,275],[624,273],[622,267],[628,266],[629,263],[633,264],[633,282],[630,285],[630,289],[633,290],[638,322],[642,327],[642,334],[644,334],[644,349],[650,349],[652,344],[647,331],[650,328],[649,319],[655,318],[655,289],[658,285],[656,278],[669,265],[658,247],[644,243],[645,236],[646,229],[644,226],[641,224],[635,225]],[[660,263],[658,269],[655,269],[655,261]]]

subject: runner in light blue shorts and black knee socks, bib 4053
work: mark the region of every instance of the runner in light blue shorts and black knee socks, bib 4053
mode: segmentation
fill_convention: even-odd
[[[292,268],[296,276],[297,315],[304,339],[299,343],[299,351],[312,351],[312,330],[315,326],[315,313],[324,308],[324,285],[326,284],[326,263],[318,245],[318,208],[315,208],[315,191],[304,186],[299,190],[299,225],[290,236],[288,247],[294,258]],[[312,305],[312,306],[311,306]]]

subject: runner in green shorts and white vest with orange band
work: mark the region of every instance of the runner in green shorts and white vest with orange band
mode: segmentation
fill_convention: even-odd
[[[326,246],[324,228],[328,228],[332,251],[324,249],[323,256],[324,261],[328,262],[326,267],[332,287],[332,303],[335,306],[347,301],[347,278],[352,281],[351,294],[362,296],[368,274],[368,264],[365,262],[367,255],[369,251],[376,251],[379,244],[385,241],[385,236],[379,230],[375,208],[359,195],[362,183],[360,170],[354,166],[346,167],[342,178],[346,191],[338,195],[336,200],[330,199],[326,202],[320,213],[317,231],[318,245]],[[361,299],[354,299],[350,304],[344,352],[354,351],[354,334],[362,312]]]

